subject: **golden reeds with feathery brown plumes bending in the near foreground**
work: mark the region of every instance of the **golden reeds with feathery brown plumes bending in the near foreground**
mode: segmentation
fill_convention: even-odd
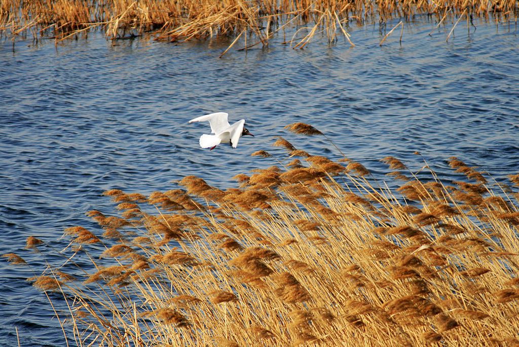
[[[114,189],[104,194],[118,213],[88,212],[102,229],[66,229],[61,251],[29,237],[43,259],[63,259],[31,280],[66,303],[56,312],[66,337],[79,346],[519,345],[519,175],[497,184],[449,158],[460,179],[444,181],[427,163],[412,172],[386,157],[388,185],[347,158],[274,145],[288,155],[237,175],[238,188],[188,176],[149,196]]]

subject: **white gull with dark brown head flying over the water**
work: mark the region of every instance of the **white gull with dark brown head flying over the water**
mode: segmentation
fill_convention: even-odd
[[[211,125],[211,132],[214,135],[203,134],[200,136],[201,148],[211,147],[212,150],[218,144],[227,142],[236,148],[240,137],[243,135],[254,136],[243,126],[245,124],[245,119],[241,119],[241,121],[230,125],[227,121],[227,116],[228,114],[225,112],[216,112],[189,121],[189,123],[209,121],[209,124]]]

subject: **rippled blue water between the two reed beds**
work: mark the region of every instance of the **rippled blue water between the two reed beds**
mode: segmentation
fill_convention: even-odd
[[[497,181],[519,171],[519,40],[513,24],[475,22],[434,31],[406,24],[379,46],[377,26],[351,28],[350,48],[316,37],[305,49],[281,45],[231,49],[230,41],[172,45],[147,39],[107,42],[102,34],[54,46],[4,39],[0,44],[0,253],[24,250],[35,236],[64,247],[63,229],[99,231],[85,212],[114,208],[101,193],[149,194],[197,175],[220,188],[232,177],[276,164],[250,157],[283,136],[312,154],[339,158],[319,137],[290,134],[309,123],[380,179],[392,155],[418,169],[427,162],[449,178],[457,156]],[[399,30],[398,30],[399,31]],[[394,33],[393,33],[394,34]],[[238,47],[238,46],[236,46]],[[247,120],[256,137],[237,149],[202,150],[208,124],[189,119],[216,111]],[[0,261],[0,345],[64,345],[43,293],[25,282],[28,268]],[[59,306],[58,310],[65,309]]]

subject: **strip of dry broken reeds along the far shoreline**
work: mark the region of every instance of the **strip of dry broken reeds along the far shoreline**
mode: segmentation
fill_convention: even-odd
[[[316,34],[330,42],[345,37],[354,45],[349,26],[366,22],[406,21],[416,15],[434,16],[439,24],[447,16],[467,25],[473,17],[516,22],[518,12],[517,0],[5,0],[0,3],[0,34],[61,41],[104,30],[112,39],[151,33],[154,39],[177,43],[215,35],[237,40],[245,34],[247,48],[268,45],[272,35],[285,35],[286,29],[291,36],[284,43],[302,48]]]

